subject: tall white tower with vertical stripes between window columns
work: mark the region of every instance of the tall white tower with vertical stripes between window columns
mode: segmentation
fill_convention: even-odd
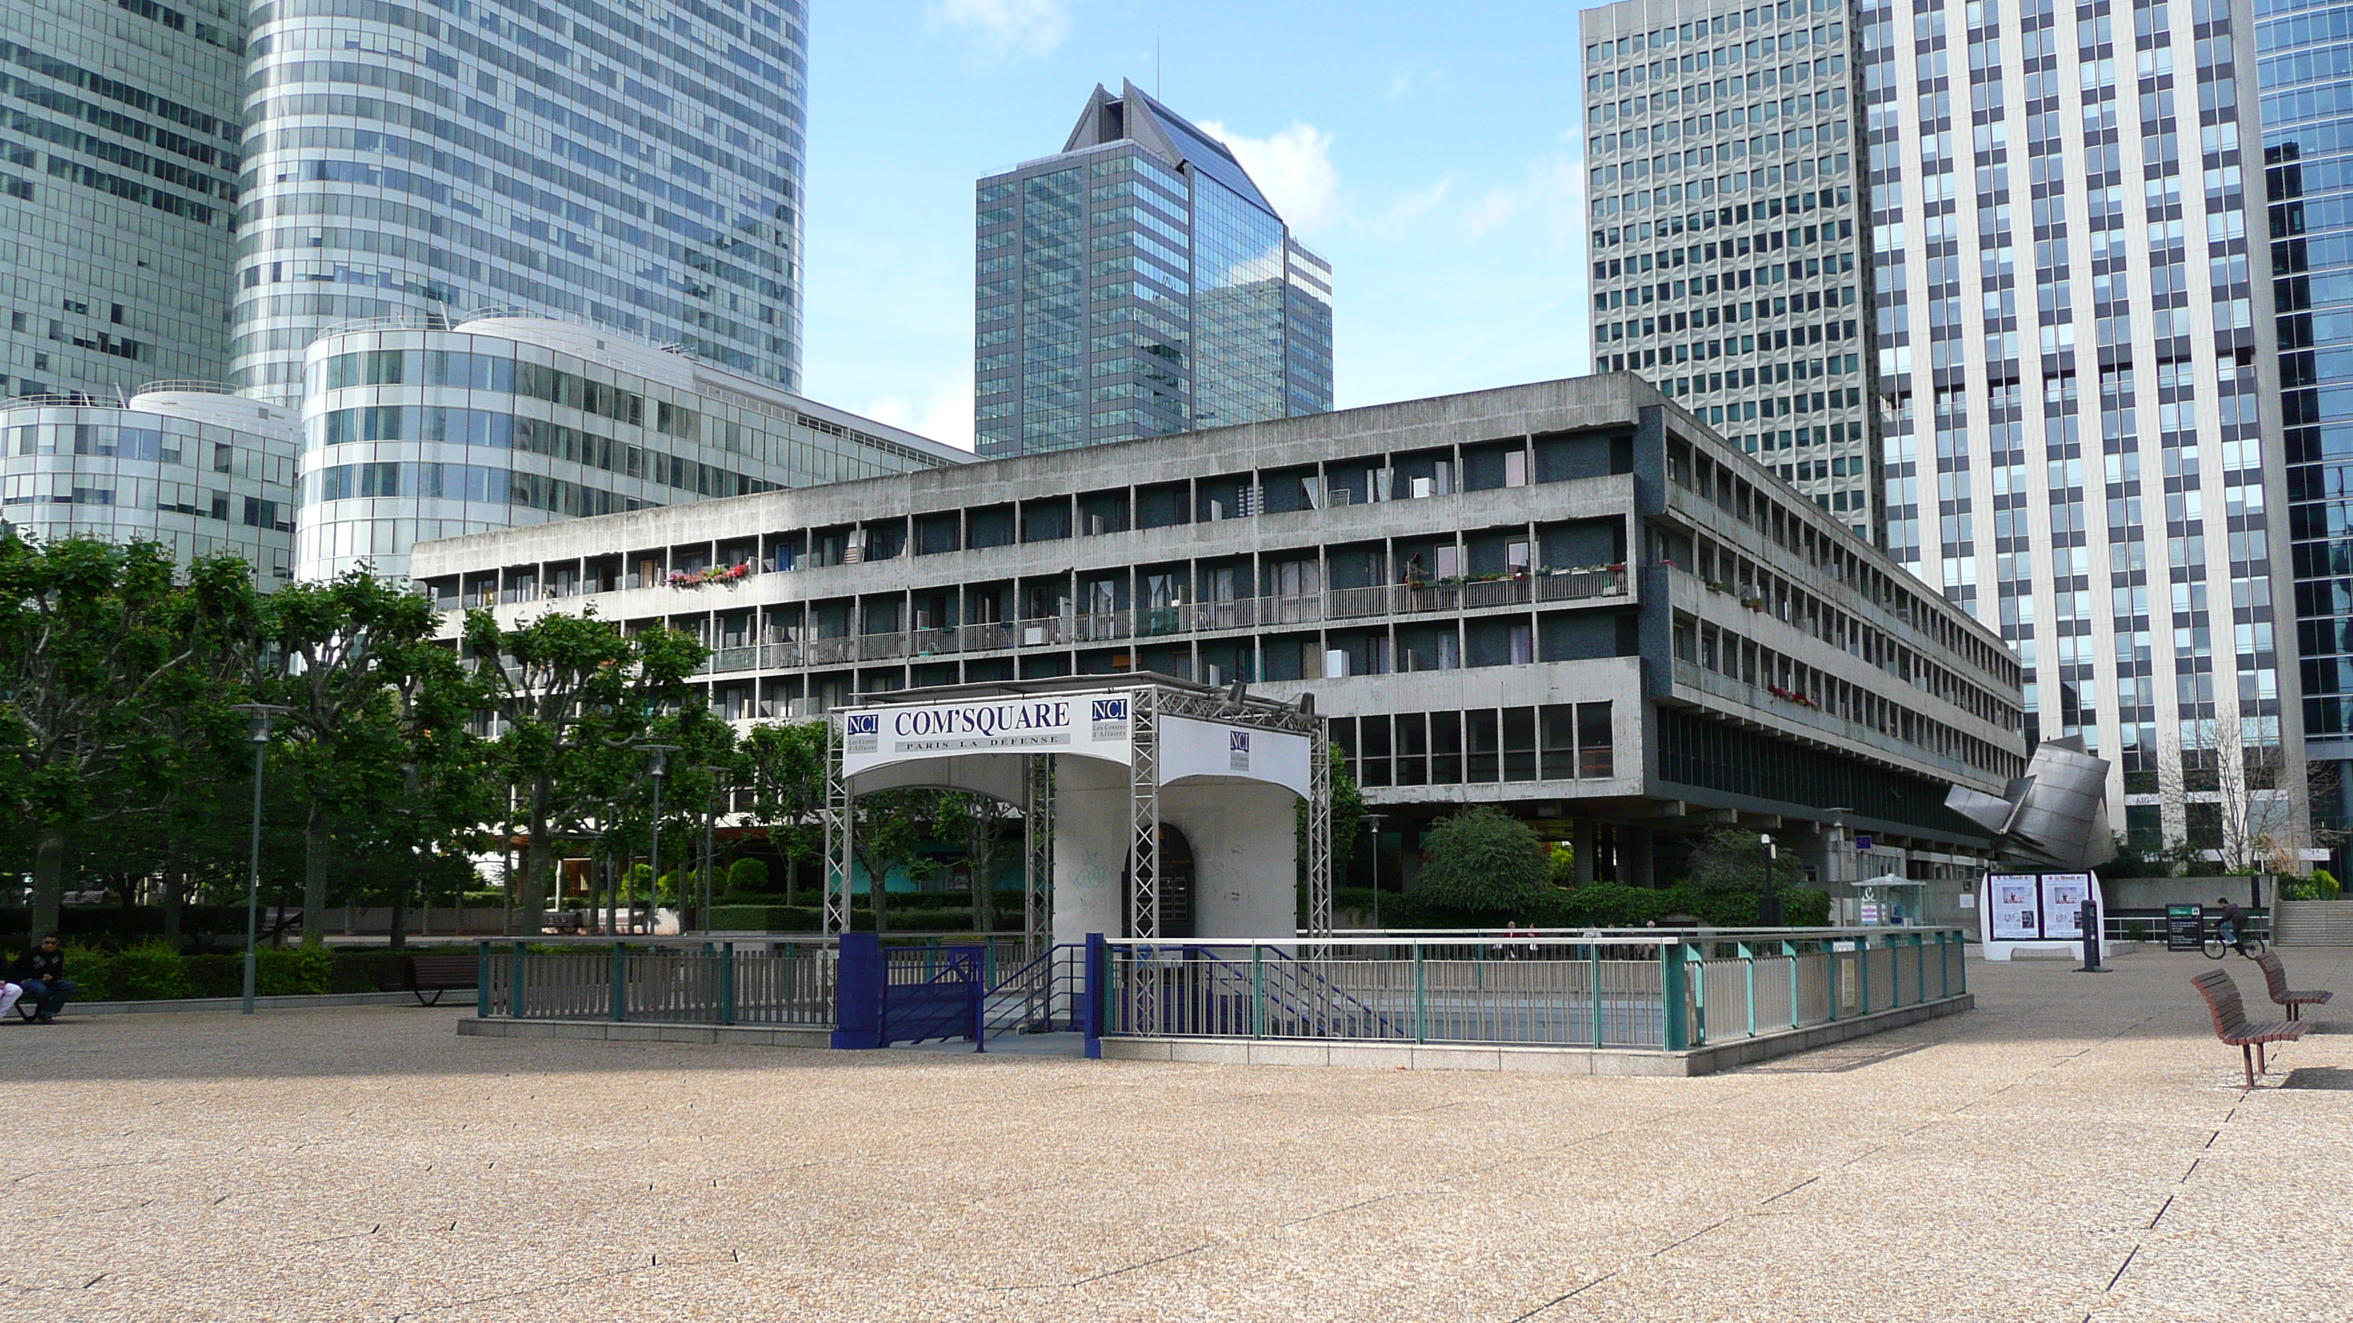
[[[1859,21],[1892,551],[2019,652],[2031,734],[2111,760],[2137,845],[2301,838],[2252,12]]]

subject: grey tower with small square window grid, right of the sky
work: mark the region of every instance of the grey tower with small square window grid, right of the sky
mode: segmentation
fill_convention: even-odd
[[[1845,0],[1581,14],[1593,363],[1878,537]]]

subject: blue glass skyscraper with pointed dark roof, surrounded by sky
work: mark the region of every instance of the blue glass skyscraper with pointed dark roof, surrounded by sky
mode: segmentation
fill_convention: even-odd
[[[1096,87],[1059,155],[979,181],[984,457],[1332,407],[1332,266],[1219,141]]]

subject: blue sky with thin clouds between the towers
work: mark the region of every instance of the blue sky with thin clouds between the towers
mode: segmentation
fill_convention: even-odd
[[[1332,261],[1339,407],[1584,372],[1574,5],[814,0],[812,398],[972,445],[972,181],[1155,45]]]

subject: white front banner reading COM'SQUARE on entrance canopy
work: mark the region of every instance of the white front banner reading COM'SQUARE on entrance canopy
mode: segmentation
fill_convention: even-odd
[[[1132,760],[1127,690],[908,704],[842,713],[842,774],[958,753],[1075,753]]]

